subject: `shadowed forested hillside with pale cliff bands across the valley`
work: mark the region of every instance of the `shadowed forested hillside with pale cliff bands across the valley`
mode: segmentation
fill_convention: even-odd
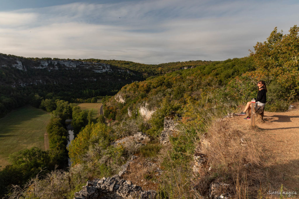
[[[113,95],[144,78],[138,72],[104,63],[31,60],[0,55],[0,117],[24,104],[38,107],[42,99],[80,102]]]

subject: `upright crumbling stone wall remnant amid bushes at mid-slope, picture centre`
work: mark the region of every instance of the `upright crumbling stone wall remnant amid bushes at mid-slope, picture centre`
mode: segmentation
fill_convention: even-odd
[[[167,144],[169,142],[169,136],[176,134],[179,129],[177,128],[180,118],[174,119],[175,115],[164,118],[164,130],[160,135],[160,143]]]

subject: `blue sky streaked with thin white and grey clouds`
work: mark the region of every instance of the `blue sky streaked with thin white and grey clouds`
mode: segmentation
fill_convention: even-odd
[[[244,57],[297,1],[0,0],[0,53],[158,64]],[[299,25],[299,24],[298,24]]]

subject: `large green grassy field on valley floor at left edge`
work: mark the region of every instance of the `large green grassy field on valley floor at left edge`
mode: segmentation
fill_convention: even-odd
[[[25,106],[0,119],[0,166],[9,164],[8,156],[22,149],[37,146],[44,149],[44,134],[50,114]],[[1,169],[1,167],[0,167]]]

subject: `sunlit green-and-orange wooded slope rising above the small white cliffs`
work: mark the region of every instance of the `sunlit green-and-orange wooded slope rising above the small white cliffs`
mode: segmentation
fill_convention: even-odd
[[[147,104],[147,109],[156,109],[162,99],[184,104],[187,96],[199,98],[201,95],[214,93],[214,90],[224,87],[232,78],[254,69],[251,57],[234,58],[134,82],[118,92],[124,103],[119,103],[114,98],[106,102],[105,116],[112,113],[117,120],[122,120],[127,115],[128,108],[133,113],[138,113],[138,109],[144,104]]]

